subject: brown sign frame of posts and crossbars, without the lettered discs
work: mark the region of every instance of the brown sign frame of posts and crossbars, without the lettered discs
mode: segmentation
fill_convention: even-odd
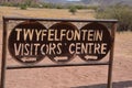
[[[8,66],[7,65],[7,25],[9,21],[53,21],[53,22],[99,22],[99,23],[112,23],[111,26],[111,48],[109,55],[109,62],[107,63],[85,63],[85,64],[56,64],[56,65],[23,65],[23,66]],[[72,19],[35,19],[35,18],[15,18],[3,16],[3,37],[2,37],[2,59],[1,59],[1,81],[0,88],[6,88],[6,70],[7,69],[21,69],[21,68],[41,68],[41,67],[65,67],[65,66],[97,66],[107,65],[108,67],[108,86],[112,88],[112,66],[113,66],[113,51],[114,51],[114,36],[117,30],[118,20],[72,20]]]

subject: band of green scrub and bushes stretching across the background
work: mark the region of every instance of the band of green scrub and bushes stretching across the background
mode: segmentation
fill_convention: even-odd
[[[22,10],[28,8],[46,8],[46,9],[68,9],[72,14],[76,14],[77,10],[90,9],[96,11],[96,19],[117,19],[119,20],[118,31],[132,31],[132,7],[125,4],[113,6],[86,6],[86,4],[56,4],[45,2],[34,2],[25,0],[23,3],[3,2],[0,6],[20,7]]]

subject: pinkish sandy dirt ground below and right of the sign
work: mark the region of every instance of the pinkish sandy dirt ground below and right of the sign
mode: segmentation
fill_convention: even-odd
[[[3,13],[1,9],[0,12]],[[2,25],[0,28],[1,55]],[[11,61],[10,64],[15,63],[11,56],[8,56],[8,59]],[[45,61],[48,62],[47,58]],[[80,58],[76,57],[76,61],[79,62]],[[131,67],[132,32],[117,33],[112,77],[113,88],[132,88]],[[107,66],[14,69],[7,70],[6,88],[106,88],[107,76]]]

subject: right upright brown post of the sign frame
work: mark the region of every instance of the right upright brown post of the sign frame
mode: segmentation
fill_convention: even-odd
[[[113,54],[114,54],[114,37],[116,37],[117,23],[113,23],[111,29],[111,50],[109,57],[109,68],[108,68],[108,87],[112,88],[112,69],[113,69]]]

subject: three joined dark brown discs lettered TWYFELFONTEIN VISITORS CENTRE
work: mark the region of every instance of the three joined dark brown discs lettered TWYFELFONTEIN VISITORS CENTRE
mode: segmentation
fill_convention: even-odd
[[[102,59],[111,47],[109,30],[91,22],[77,29],[70,22],[45,28],[36,21],[18,24],[9,35],[9,52],[20,63],[34,64],[48,56],[53,62],[66,63],[80,56],[84,61]]]

